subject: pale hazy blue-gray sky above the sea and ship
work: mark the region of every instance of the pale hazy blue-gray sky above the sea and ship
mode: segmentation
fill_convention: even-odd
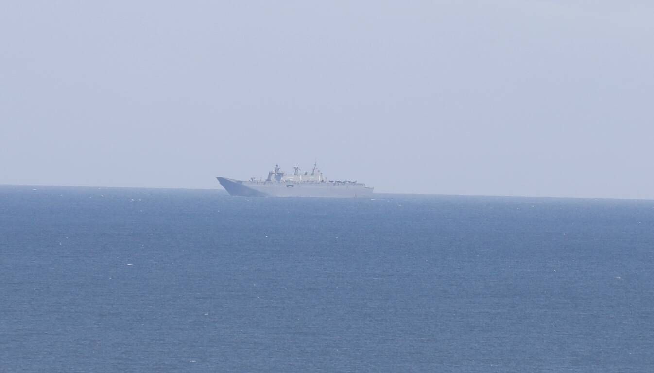
[[[654,198],[654,1],[6,1],[0,184]]]

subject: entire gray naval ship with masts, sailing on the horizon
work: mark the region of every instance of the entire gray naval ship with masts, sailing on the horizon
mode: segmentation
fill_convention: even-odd
[[[218,177],[218,182],[230,193],[244,197],[372,197],[372,187],[347,180],[327,180],[313,164],[311,174],[293,167],[292,175],[287,175],[275,165],[268,172],[266,180],[234,180]]]

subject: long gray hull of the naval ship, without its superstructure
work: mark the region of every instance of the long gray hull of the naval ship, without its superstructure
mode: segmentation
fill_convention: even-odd
[[[372,197],[373,188],[354,183],[248,182],[218,177],[230,195],[242,197]]]

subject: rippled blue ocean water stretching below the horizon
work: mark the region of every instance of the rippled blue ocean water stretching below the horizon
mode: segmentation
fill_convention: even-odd
[[[0,186],[0,372],[654,372],[654,201]]]

